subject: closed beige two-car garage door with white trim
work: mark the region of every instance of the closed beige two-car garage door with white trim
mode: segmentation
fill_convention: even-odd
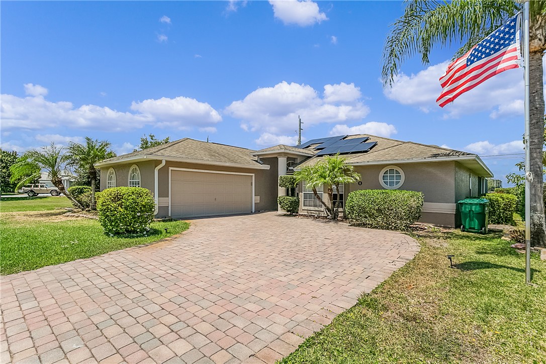
[[[252,175],[171,170],[172,217],[252,212]]]

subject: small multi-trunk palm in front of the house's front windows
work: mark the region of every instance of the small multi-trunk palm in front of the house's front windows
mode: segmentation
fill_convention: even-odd
[[[339,217],[340,199],[334,201],[334,187],[339,196],[340,184],[355,183],[360,181],[360,174],[354,171],[353,166],[347,165],[347,158],[336,154],[334,157],[325,157],[317,163],[305,166],[294,172],[296,183],[305,181],[307,188],[311,188],[315,198],[324,206],[324,211],[329,219],[337,220]],[[321,198],[317,188],[324,186],[328,204]]]

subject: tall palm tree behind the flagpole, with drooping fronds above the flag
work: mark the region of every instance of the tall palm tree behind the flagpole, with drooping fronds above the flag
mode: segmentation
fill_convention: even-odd
[[[391,85],[401,64],[410,57],[420,56],[429,63],[432,48],[463,44],[455,57],[494,32],[509,17],[521,10],[514,0],[454,0],[406,2],[404,14],[397,19],[385,40],[382,78]],[[542,144],[544,133],[544,89],[542,58],[546,51],[546,0],[530,1],[530,122],[531,172],[542,175]],[[546,247],[542,178],[531,183],[531,243]]]

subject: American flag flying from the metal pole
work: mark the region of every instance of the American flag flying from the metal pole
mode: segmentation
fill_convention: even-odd
[[[519,34],[520,14],[455,59],[440,77],[442,93],[436,103],[443,108],[490,77],[521,67]]]

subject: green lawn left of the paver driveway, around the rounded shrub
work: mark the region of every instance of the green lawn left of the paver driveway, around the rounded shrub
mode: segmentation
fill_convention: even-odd
[[[146,237],[110,237],[97,220],[65,216],[64,197],[0,201],[0,273],[9,275],[150,243],[179,234],[187,222],[152,223]],[[167,229],[167,231],[165,231]]]

